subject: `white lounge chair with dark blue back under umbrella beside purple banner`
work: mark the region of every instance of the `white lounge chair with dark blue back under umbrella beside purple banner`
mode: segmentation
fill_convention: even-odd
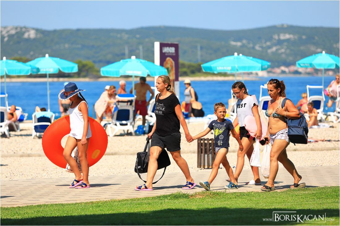
[[[118,110],[114,112],[112,115],[112,122],[105,124],[104,129],[108,129],[108,133],[110,137],[115,136],[118,130],[124,130],[126,134],[129,130],[132,132],[132,135],[135,135],[133,130],[133,114],[134,114],[134,106],[131,105],[118,105]],[[111,128],[114,129],[112,132]],[[126,130],[126,131],[125,131]]]

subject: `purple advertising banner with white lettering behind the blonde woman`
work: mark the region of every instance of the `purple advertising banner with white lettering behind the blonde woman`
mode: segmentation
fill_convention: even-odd
[[[159,42],[159,65],[167,69],[173,87],[179,81],[179,59],[178,43]]]

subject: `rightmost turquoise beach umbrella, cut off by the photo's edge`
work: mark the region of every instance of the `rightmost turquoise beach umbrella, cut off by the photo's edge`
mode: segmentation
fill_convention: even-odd
[[[322,69],[322,87],[324,86],[325,69],[339,68],[339,65],[340,58],[335,55],[326,54],[325,51],[296,61],[296,67],[315,67]]]

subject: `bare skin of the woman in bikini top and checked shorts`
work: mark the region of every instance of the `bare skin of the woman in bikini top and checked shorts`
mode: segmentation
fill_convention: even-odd
[[[267,144],[270,142],[269,134],[275,134],[278,131],[287,128],[287,123],[285,121],[285,116],[290,119],[299,119],[300,112],[297,110],[295,105],[287,100],[285,107],[281,108],[279,106],[280,98],[281,102],[284,97],[280,95],[281,89],[275,89],[274,85],[268,85],[268,94],[272,98],[270,101],[270,106],[268,108],[268,114],[272,115],[273,111],[277,114],[281,115],[280,118],[269,117],[268,121],[268,131],[267,135],[263,137],[263,140],[267,138]],[[274,187],[274,180],[276,178],[276,174],[278,171],[278,162],[282,163],[282,165],[286,168],[286,170],[293,176],[294,183],[299,183],[302,179],[299,173],[297,173],[296,168],[292,161],[290,161],[287,157],[286,148],[289,143],[286,140],[278,140],[276,139],[272,145],[270,151],[270,170],[269,170],[269,178],[266,183],[269,187]],[[294,187],[293,185],[291,187]],[[262,188],[265,188],[264,186]]]

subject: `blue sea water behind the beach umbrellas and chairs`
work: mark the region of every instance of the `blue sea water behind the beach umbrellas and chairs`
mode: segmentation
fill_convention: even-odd
[[[249,94],[255,94],[257,99],[260,94],[260,85],[265,84],[270,78],[260,77],[259,80],[245,81],[245,85],[249,90]],[[279,80],[284,80],[286,84],[286,94],[289,99],[296,104],[301,99],[301,94],[306,92],[306,85],[321,85],[322,78],[319,76],[311,77],[279,77]],[[334,80],[334,77],[325,77],[325,86]],[[82,92],[86,101],[89,104],[89,116],[93,115],[93,106],[104,91],[106,85],[115,85],[119,87],[118,81],[100,81],[100,82],[76,82],[78,88],[86,89]],[[148,82],[151,86],[153,82]],[[231,98],[231,86],[234,81],[192,81],[191,85],[195,88],[199,101],[203,105],[205,115],[214,114],[214,103],[223,102],[228,103]],[[55,118],[60,117],[58,106],[58,94],[64,88],[64,82],[50,82],[50,106],[51,111],[56,114]],[[28,113],[28,119],[32,119],[35,106],[47,108],[47,84],[46,82],[7,82],[8,104],[20,106],[23,112]],[[126,82],[126,90],[130,90],[132,82]],[[1,91],[3,92],[4,84],[1,83]],[[184,83],[180,83],[180,102],[184,101]],[[311,95],[321,95],[321,89],[314,90]],[[268,95],[265,89],[262,89],[262,96]],[[328,101],[328,97],[325,97]],[[4,98],[1,98],[1,106],[4,106]],[[324,111],[334,111],[332,108],[327,108],[326,104]]]

